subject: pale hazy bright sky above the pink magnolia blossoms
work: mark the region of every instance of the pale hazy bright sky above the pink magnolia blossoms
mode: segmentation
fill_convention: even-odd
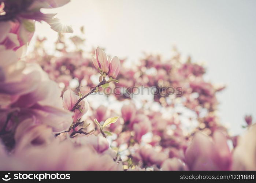
[[[217,93],[220,121],[235,135],[243,131],[244,116],[256,116],[256,1],[255,0],[72,0],[63,7],[43,9],[57,13],[73,34],[85,28],[85,46],[106,48],[129,64],[143,52],[171,56],[175,46],[182,57],[206,68],[204,79],[226,89]],[[36,37],[46,37],[54,51],[57,34],[47,23],[36,22]],[[72,46],[72,45],[71,45]]]

